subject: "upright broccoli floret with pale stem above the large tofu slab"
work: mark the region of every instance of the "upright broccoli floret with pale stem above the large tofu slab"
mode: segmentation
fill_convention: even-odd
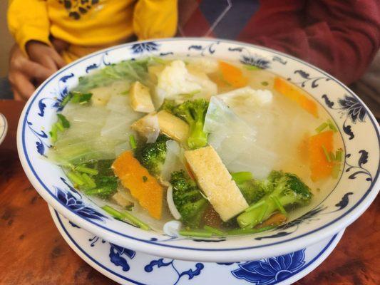
[[[205,99],[188,100],[173,108],[172,113],[190,126],[188,146],[190,149],[207,145],[207,133],[203,131],[208,102]]]

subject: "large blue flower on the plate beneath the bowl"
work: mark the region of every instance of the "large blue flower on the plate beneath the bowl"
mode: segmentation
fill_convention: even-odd
[[[232,274],[237,279],[244,279],[256,285],[277,284],[302,268],[305,263],[304,250],[269,259],[248,261],[239,264],[239,268],[232,271]]]

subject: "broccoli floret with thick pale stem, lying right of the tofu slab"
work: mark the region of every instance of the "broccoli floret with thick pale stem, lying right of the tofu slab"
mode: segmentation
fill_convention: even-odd
[[[252,204],[246,212],[237,217],[240,227],[255,227],[279,210],[287,207],[303,206],[310,202],[312,192],[302,180],[292,173],[272,171],[267,178],[273,191]]]

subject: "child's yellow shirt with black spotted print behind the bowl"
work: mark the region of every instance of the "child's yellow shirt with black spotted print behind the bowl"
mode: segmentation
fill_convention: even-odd
[[[177,29],[177,0],[11,0],[9,31],[25,52],[28,41],[51,45],[49,36],[70,44],[66,62],[100,48],[165,38]]]

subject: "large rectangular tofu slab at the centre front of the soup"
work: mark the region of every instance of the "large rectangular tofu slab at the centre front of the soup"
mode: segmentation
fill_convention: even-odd
[[[247,201],[212,146],[185,151],[185,158],[200,189],[224,222],[247,209]]]

